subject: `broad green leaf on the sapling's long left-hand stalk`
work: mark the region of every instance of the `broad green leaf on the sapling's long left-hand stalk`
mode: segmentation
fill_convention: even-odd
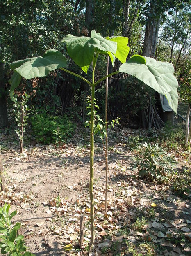
[[[66,67],[65,56],[60,51],[48,50],[43,57],[32,58],[15,70],[25,79],[31,79],[45,77],[50,71],[59,67]]]

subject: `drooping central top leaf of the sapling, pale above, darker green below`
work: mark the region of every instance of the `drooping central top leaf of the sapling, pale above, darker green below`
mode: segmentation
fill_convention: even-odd
[[[114,54],[117,50],[116,42],[105,39],[100,33],[96,33],[95,30],[91,31],[91,37],[76,37],[69,34],[61,42],[66,42],[68,54],[86,73],[95,51],[104,54],[108,52]]]

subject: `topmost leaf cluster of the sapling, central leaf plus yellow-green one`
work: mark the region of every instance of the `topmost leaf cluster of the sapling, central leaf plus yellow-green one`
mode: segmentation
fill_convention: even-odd
[[[61,42],[66,42],[68,54],[75,63],[87,73],[95,52],[108,54],[114,65],[115,57],[125,63],[129,53],[127,37],[102,37],[95,30],[91,37],[67,35]]]

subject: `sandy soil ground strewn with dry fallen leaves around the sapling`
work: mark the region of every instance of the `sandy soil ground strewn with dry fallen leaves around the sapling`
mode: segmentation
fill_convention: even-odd
[[[150,249],[142,250],[142,255],[189,255],[190,250],[187,245],[189,232],[185,235],[181,231],[187,238],[183,237],[184,241],[174,243],[173,240],[170,242],[169,239],[166,240],[169,230],[161,227],[142,228],[142,230],[139,229],[142,235],[136,233],[140,233],[134,228],[137,218],[141,219],[142,216],[147,218],[150,209],[154,210],[155,216],[148,218],[148,222],[150,221],[148,225],[154,222],[170,223],[168,229],[171,228],[169,231],[171,236],[173,232],[178,233],[177,231],[182,227],[189,230],[191,209],[189,195],[182,198],[173,193],[168,184],[149,184],[147,181],[136,179],[135,173],[130,170],[131,157],[134,153],[123,144],[123,141],[120,142],[124,136],[134,133],[130,129],[118,130],[110,137],[109,147],[112,150],[109,151],[109,171],[113,185],[109,182],[108,214],[104,212],[103,207],[105,155],[101,145],[96,146],[94,169],[98,228],[95,248],[89,255],[138,255],[136,251],[134,254],[130,253],[127,244],[126,247],[122,242],[118,244],[118,241],[122,241],[121,239],[132,243],[132,248],[135,242],[140,245],[142,240],[150,243]],[[5,141],[5,144],[6,136],[2,131],[1,140]],[[77,244],[80,236],[79,225],[82,213],[85,214],[86,223],[89,223],[89,146],[87,141],[88,136],[85,136],[79,128],[77,135],[62,147],[44,146],[30,140],[25,145],[24,154],[19,154],[18,146],[15,144],[8,143],[7,149],[2,150],[6,192],[1,193],[0,204],[2,206],[8,202],[11,205],[11,211],[17,210],[14,222],[22,223],[19,232],[25,235],[29,251],[36,256],[88,255],[85,247],[90,238],[88,224],[85,226],[86,239],[83,250],[77,250],[74,245]],[[180,159],[178,167],[188,168],[184,158]],[[115,205],[113,191],[115,191]],[[153,202],[157,205],[156,207],[151,207]],[[64,210],[66,207],[67,211]],[[117,216],[115,216],[114,207],[116,207]],[[103,216],[101,216],[102,213]],[[111,226],[102,228],[107,224]],[[166,228],[166,226],[163,227]],[[107,236],[102,235],[104,230],[107,231]],[[128,232],[122,233],[120,230],[128,230]],[[144,235],[148,231],[151,232],[147,236],[147,241]],[[162,232],[164,237],[163,235],[160,237],[159,232]],[[102,243],[111,249],[107,251],[100,245]],[[66,251],[67,244],[73,244],[72,251]],[[117,246],[114,248],[112,244]],[[150,254],[148,254],[149,250]]]

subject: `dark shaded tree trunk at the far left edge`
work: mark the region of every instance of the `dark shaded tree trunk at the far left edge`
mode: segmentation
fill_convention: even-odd
[[[4,63],[0,62],[0,128],[7,127],[7,106],[5,95]]]

